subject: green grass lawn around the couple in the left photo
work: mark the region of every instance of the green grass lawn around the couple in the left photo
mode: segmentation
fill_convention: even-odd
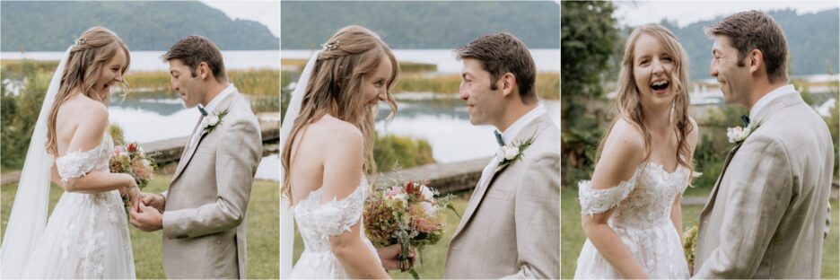
[[[171,174],[155,176],[144,188],[147,192],[162,192],[169,187]],[[258,180],[251,189],[248,206],[248,278],[278,278],[279,262],[279,187],[276,182]],[[0,188],[2,195],[2,224],[8,223],[17,184]],[[49,192],[49,211],[56,206],[63,190],[55,185]],[[129,225],[134,251],[137,278],[166,278],[161,263],[162,232],[141,232]]]

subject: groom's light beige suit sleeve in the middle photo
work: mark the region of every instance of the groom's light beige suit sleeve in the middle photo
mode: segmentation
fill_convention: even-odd
[[[529,164],[514,206],[519,272],[503,278],[560,278],[560,154]]]

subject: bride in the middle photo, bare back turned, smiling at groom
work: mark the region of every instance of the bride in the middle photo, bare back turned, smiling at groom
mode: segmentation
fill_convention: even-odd
[[[282,193],[291,204],[305,249],[289,278],[388,278],[377,249],[364,235],[365,171],[375,172],[373,116],[386,101],[398,64],[372,31],[338,31],[304,67],[284,116]],[[304,90],[305,89],[305,90]],[[286,208],[283,208],[286,210]],[[291,264],[293,230],[284,217],[284,272]]]

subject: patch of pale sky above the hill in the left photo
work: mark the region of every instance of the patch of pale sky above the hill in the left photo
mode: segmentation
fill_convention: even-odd
[[[275,37],[280,37],[280,1],[216,1],[202,0],[205,4],[221,10],[232,19],[251,20],[265,25]]]

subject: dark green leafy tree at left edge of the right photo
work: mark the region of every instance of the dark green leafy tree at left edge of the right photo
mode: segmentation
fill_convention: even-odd
[[[602,77],[619,41],[611,2],[562,2],[560,45],[561,123],[564,186],[589,178],[595,149],[603,135],[598,118],[587,116],[587,105],[601,99]]]

